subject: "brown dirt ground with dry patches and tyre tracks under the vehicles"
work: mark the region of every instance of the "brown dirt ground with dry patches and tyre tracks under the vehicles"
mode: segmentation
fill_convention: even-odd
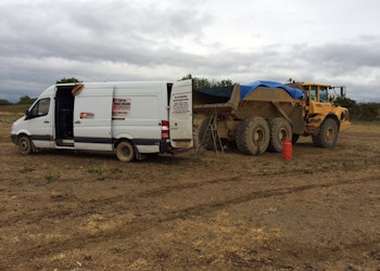
[[[0,114],[0,270],[380,270],[380,124],[293,159],[23,156]]]

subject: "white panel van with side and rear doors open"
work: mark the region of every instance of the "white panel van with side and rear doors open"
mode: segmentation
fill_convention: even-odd
[[[191,80],[59,83],[12,126],[22,154],[114,151],[119,160],[193,146]]]

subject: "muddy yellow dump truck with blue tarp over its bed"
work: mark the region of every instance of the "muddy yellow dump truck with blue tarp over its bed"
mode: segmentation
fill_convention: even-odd
[[[207,115],[199,130],[200,143],[213,150],[220,146],[215,139],[220,139],[221,145],[257,155],[267,150],[282,152],[286,138],[294,144],[300,136],[312,136],[314,145],[332,147],[339,132],[351,124],[349,109],[333,104],[330,88],[255,81],[194,90],[194,113]]]

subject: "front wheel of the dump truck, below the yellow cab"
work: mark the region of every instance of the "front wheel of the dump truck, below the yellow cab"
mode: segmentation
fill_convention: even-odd
[[[320,147],[332,147],[338,140],[339,127],[338,122],[332,118],[327,118],[317,136],[313,136],[313,144]]]

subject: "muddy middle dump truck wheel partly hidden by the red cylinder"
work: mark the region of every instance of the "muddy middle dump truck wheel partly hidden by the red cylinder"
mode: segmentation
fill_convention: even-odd
[[[282,143],[287,138],[292,139],[292,128],[284,118],[274,118],[269,121],[270,141],[268,151],[282,152]]]

